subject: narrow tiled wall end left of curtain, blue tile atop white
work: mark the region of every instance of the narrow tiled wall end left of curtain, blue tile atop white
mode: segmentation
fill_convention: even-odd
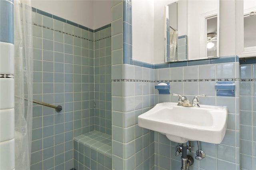
[[[0,169],[15,168],[14,4],[0,1]]]

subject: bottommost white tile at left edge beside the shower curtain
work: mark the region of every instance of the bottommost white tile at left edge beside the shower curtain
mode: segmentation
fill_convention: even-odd
[[[0,142],[0,169],[12,170],[15,168],[14,139]]]

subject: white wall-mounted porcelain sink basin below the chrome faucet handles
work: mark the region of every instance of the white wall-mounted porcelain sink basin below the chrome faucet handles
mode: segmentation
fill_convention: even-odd
[[[178,143],[199,140],[218,144],[226,133],[227,115],[226,107],[184,107],[164,102],[138,116],[138,126],[165,134]]]

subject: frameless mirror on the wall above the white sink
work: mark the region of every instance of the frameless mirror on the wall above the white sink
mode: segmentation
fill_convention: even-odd
[[[165,62],[219,56],[218,0],[178,0],[164,10]]]

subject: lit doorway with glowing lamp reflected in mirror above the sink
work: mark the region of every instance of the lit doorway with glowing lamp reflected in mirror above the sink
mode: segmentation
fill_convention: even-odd
[[[217,16],[206,18],[207,28],[207,57],[218,56],[217,54]]]

